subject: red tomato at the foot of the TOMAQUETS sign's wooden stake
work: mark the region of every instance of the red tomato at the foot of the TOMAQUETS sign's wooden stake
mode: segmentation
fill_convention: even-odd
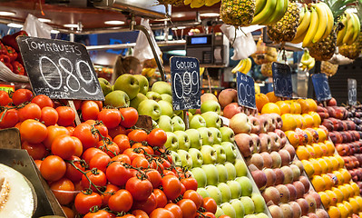
[[[79,138],[83,144],[83,149],[95,147],[99,142],[99,135],[93,133],[90,124],[79,124],[75,127],[73,136]]]

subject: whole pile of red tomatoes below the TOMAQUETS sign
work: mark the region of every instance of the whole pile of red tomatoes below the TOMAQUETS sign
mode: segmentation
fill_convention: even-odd
[[[19,129],[67,217],[215,217],[215,201],[163,149],[165,132],[135,126],[134,108],[74,101],[74,111],[26,89],[11,95],[0,91],[0,127]]]

